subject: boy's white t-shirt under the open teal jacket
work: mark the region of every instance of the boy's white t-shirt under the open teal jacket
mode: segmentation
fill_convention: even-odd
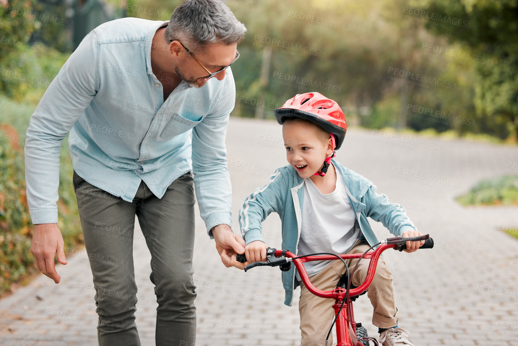
[[[341,173],[335,171],[335,190],[327,195],[323,195],[310,178],[304,179],[304,205],[297,256],[316,252],[344,254],[362,236],[359,226],[355,227],[356,215],[347,196],[346,184]],[[308,276],[312,276],[330,262],[305,262],[304,267]],[[296,278],[301,281],[298,271]]]

